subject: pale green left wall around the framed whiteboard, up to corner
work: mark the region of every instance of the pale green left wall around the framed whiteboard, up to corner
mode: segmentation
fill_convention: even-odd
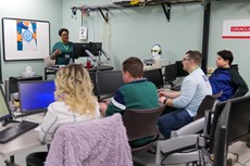
[[[0,0],[0,18],[29,18],[50,22],[51,43],[59,40],[58,29],[62,26],[62,0]],[[2,31],[2,26],[0,27]],[[2,78],[8,79],[10,76],[21,76],[27,65],[33,66],[38,75],[45,74],[43,61],[3,61],[2,51],[2,33],[0,33],[1,43],[1,65]]]

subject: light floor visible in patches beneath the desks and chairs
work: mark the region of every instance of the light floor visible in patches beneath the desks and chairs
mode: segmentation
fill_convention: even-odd
[[[24,152],[22,154],[15,155],[15,163],[18,166],[25,166],[25,157],[27,154],[32,152],[38,152],[38,151],[46,151],[46,146],[35,149],[33,151]],[[232,157],[237,158],[236,154],[239,155],[238,163],[236,163],[234,166],[250,166],[250,148],[246,145],[246,142],[238,141],[229,146],[229,152],[233,152],[234,154],[230,154]],[[158,166],[154,164],[154,156],[149,153],[140,154],[136,157],[136,161],[141,163],[145,166]],[[4,166],[4,161],[2,157],[0,157],[0,166]],[[141,166],[140,164],[135,164],[135,166]],[[173,166],[173,165],[167,165]],[[185,166],[185,165],[175,165],[175,166]]]

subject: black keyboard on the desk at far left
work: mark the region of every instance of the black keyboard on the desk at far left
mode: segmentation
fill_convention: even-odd
[[[9,128],[0,131],[0,143],[5,143],[5,142],[23,135],[24,132],[27,132],[28,130],[37,127],[38,125],[39,124],[37,124],[37,123],[23,120],[15,126],[9,127]]]

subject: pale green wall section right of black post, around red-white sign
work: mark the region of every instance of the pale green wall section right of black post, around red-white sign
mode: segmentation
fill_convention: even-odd
[[[249,20],[250,3],[248,0],[238,2],[216,2],[212,3],[211,11],[211,33],[209,49],[209,66],[215,67],[216,52],[223,49],[232,50],[238,64],[239,72],[250,88],[250,39],[222,39],[222,28],[224,20]]]

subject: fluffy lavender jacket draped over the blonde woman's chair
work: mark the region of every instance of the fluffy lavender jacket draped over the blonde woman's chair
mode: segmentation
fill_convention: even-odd
[[[133,166],[122,116],[60,127],[46,166]]]

